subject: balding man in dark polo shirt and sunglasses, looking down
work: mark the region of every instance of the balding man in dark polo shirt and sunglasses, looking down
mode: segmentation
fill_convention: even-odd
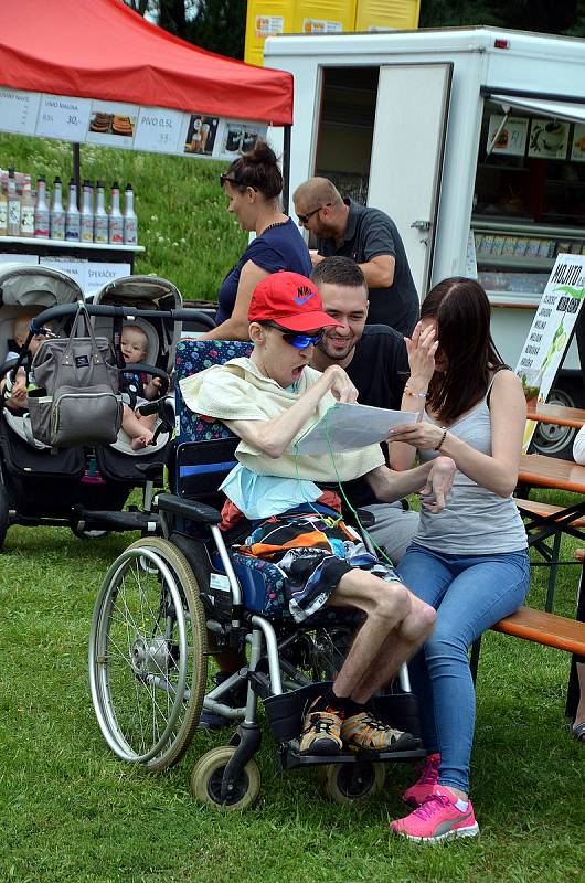
[[[351,257],[370,291],[368,323],[411,334],[418,320],[418,296],[394,221],[380,209],[342,200],[328,178],[305,181],[292,200],[299,224],[317,238],[313,266],[331,255]]]

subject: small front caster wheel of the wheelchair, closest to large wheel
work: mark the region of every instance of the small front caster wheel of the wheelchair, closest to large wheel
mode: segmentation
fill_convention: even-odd
[[[223,773],[235,752],[234,745],[222,745],[221,748],[212,748],[196,762],[191,774],[191,791],[200,804],[230,810],[247,809],[256,801],[260,790],[260,772],[256,762],[251,759],[222,804]]]

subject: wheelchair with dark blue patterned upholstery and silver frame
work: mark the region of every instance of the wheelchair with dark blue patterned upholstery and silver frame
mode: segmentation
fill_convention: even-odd
[[[178,380],[249,351],[240,342],[180,342]],[[348,749],[334,757],[299,752],[307,703],[341,668],[361,615],[326,607],[296,624],[281,571],[227,547],[219,529],[217,488],[235,465],[238,439],[223,424],[192,414],[177,389],[173,492],[157,497],[162,536],[128,546],[108,570],[95,604],[89,682],[104,738],[121,760],[163,770],[187,752],[202,709],[222,714],[235,732],[228,744],[196,760],[191,790],[210,807],[244,809],[260,788],[254,755],[262,740],[262,702],[283,770],[318,766],[326,795],[338,802],[374,794],[386,762],[425,756],[419,741],[401,752]],[[226,648],[246,649],[247,666],[208,690],[209,657]],[[238,688],[245,700],[233,708],[228,700]],[[406,667],[375,704],[380,717],[418,740]]]

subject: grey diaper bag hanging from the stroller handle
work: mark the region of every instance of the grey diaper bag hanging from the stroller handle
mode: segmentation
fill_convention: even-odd
[[[79,337],[85,326],[87,337]],[[123,403],[110,342],[96,338],[79,305],[68,338],[45,340],[32,360],[28,404],[34,437],[52,448],[116,440]]]

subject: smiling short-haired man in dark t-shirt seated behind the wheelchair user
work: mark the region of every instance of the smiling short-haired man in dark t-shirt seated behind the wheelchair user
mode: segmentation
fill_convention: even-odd
[[[360,267],[348,257],[328,257],[313,269],[311,278],[325,311],[341,322],[341,327],[326,330],[311,365],[318,371],[331,364],[344,368],[360,404],[400,411],[408,374],[406,345],[392,328],[365,325],[368,286]],[[387,462],[387,445],[382,449]],[[405,510],[400,501],[376,502],[361,478],[344,482],[343,488],[353,508],[368,509],[375,515],[369,533],[395,563],[400,562],[418,524],[418,512]]]

